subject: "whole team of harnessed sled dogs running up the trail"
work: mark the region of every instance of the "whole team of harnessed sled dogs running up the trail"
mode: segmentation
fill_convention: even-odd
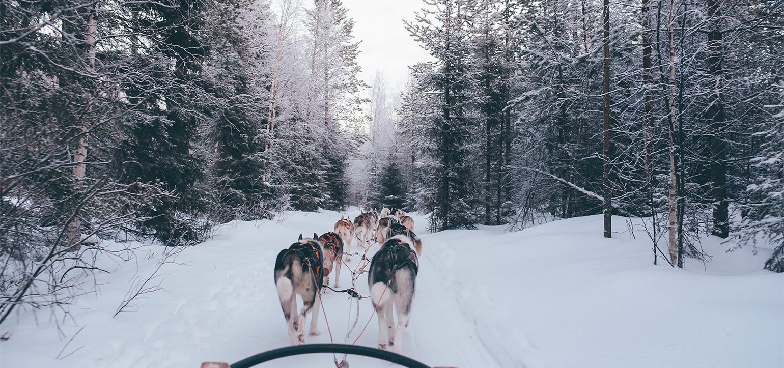
[[[370,210],[352,222],[341,216],[333,231],[324,235],[303,238],[281,250],[275,260],[275,286],[281,308],[289,328],[291,344],[305,343],[305,319],[311,313],[310,336],[318,336],[318,310],[321,308],[321,288],[328,286],[329,275],[335,270],[335,288],[339,288],[340,265],[345,254],[351,261],[351,242],[359,246],[377,241],[381,249],[372,257],[368,271],[370,299],[376,308],[379,322],[379,348],[394,345],[394,352],[402,350],[403,330],[408,327],[414,284],[419,271],[422,242],[414,234],[414,220],[397,210],[394,215],[384,207],[381,213]],[[297,312],[296,296],[302,298],[303,308]],[[397,325],[394,322],[397,312]]]

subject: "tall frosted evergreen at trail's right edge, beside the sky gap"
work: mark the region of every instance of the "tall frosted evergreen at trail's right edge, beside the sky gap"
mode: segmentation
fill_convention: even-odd
[[[417,13],[408,31],[437,60],[414,70],[416,93],[426,95],[427,111],[421,111],[412,129],[418,144],[416,166],[422,188],[419,206],[430,213],[430,228],[474,228],[479,217],[477,188],[478,126],[475,114],[476,79],[471,75],[469,20],[474,2],[426,0],[432,9]]]

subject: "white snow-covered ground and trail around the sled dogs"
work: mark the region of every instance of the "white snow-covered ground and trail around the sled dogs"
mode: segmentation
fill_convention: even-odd
[[[356,216],[358,213],[350,213]],[[158,267],[156,256],[103,261],[98,293],[80,297],[63,318],[20,309],[0,326],[3,367],[198,367],[234,363],[288,344],[273,282],[275,256],[306,236],[332,230],[340,214],[286,213],[278,221],[234,222],[164,264],[152,285],[113,317],[132,289]],[[685,269],[652,264],[644,233],[614,218],[612,239],[601,216],[543,224],[422,234],[412,322],[403,353],[430,366],[460,367],[781,367],[784,362],[784,274],[761,270],[770,252],[702,239],[710,263]],[[371,253],[378,250],[373,246]],[[356,250],[354,246],[354,250]],[[352,268],[360,262],[350,262]],[[342,286],[350,286],[343,267]],[[149,285],[149,284],[148,284]],[[367,275],[358,291],[368,295]],[[378,325],[368,299],[348,342],[376,346]],[[328,293],[332,338],[343,343],[356,302]],[[321,336],[330,333],[319,316]],[[390,366],[349,356],[351,366]],[[333,366],[332,355],[299,355],[261,366]]]

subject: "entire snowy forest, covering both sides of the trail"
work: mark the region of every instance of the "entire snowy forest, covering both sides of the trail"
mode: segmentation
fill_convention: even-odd
[[[100,239],[284,210],[644,217],[652,262],[711,234],[784,271],[784,2],[423,0],[401,91],[358,78],[353,27],[340,0],[0,0],[0,324],[77,297]]]

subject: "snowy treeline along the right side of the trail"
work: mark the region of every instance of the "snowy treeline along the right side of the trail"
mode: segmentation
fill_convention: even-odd
[[[396,162],[431,228],[651,217],[673,265],[765,235],[784,271],[784,3],[424,2]]]

